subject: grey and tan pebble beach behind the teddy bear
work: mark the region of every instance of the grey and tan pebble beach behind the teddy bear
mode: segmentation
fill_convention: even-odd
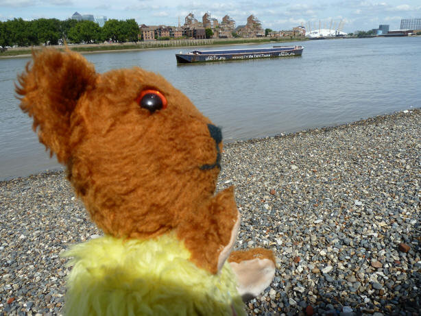
[[[276,277],[249,315],[421,315],[421,109],[229,143],[237,249]],[[101,235],[63,171],[0,182],[0,315],[60,315],[60,253]]]

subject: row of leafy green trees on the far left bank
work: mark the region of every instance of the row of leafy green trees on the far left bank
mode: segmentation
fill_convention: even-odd
[[[58,45],[71,43],[136,42],[139,25],[134,19],[108,20],[103,27],[93,21],[67,19],[13,19],[0,21],[0,46]]]

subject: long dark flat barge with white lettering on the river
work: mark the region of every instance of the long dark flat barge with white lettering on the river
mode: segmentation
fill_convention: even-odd
[[[304,47],[302,46],[274,46],[269,48],[190,51],[189,53],[176,53],[176,58],[180,64],[191,62],[220,62],[226,60],[301,56],[303,49]]]

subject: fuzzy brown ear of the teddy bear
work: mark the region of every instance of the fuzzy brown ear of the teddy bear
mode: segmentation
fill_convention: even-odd
[[[32,53],[32,62],[19,77],[16,93],[21,109],[34,118],[38,138],[66,164],[71,156],[69,146],[71,114],[77,100],[95,87],[97,73],[93,64],[79,53],[44,49]]]

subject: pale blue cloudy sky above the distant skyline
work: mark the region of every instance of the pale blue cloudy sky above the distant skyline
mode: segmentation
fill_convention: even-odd
[[[108,19],[135,19],[145,25],[181,25],[190,12],[202,21],[204,13],[221,21],[228,14],[236,25],[244,25],[254,14],[263,28],[275,31],[303,25],[307,29],[338,27],[344,32],[368,31],[379,24],[400,28],[400,19],[421,19],[420,0],[0,0],[0,21],[23,18],[68,19],[74,12],[106,16]]]

